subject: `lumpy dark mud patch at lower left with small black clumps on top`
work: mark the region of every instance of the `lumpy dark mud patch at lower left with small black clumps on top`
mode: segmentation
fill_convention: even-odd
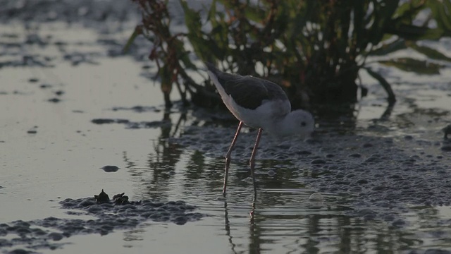
[[[92,198],[66,198],[59,202],[61,209],[67,210],[67,214],[90,215],[93,219],[47,217],[29,222],[18,220],[1,223],[0,249],[11,249],[8,253],[55,250],[68,244],[60,241],[78,234],[106,235],[114,230],[134,229],[147,221],[183,225],[206,216],[196,212],[197,207],[194,205],[183,201],[128,201],[123,194],[115,195],[109,200],[102,190],[100,195]]]

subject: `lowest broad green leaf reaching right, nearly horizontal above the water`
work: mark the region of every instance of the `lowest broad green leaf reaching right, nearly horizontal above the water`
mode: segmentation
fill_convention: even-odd
[[[431,63],[424,60],[416,60],[408,57],[398,58],[388,61],[379,61],[379,63],[385,66],[393,66],[399,68],[402,71],[414,72],[424,75],[440,74],[440,64]]]

